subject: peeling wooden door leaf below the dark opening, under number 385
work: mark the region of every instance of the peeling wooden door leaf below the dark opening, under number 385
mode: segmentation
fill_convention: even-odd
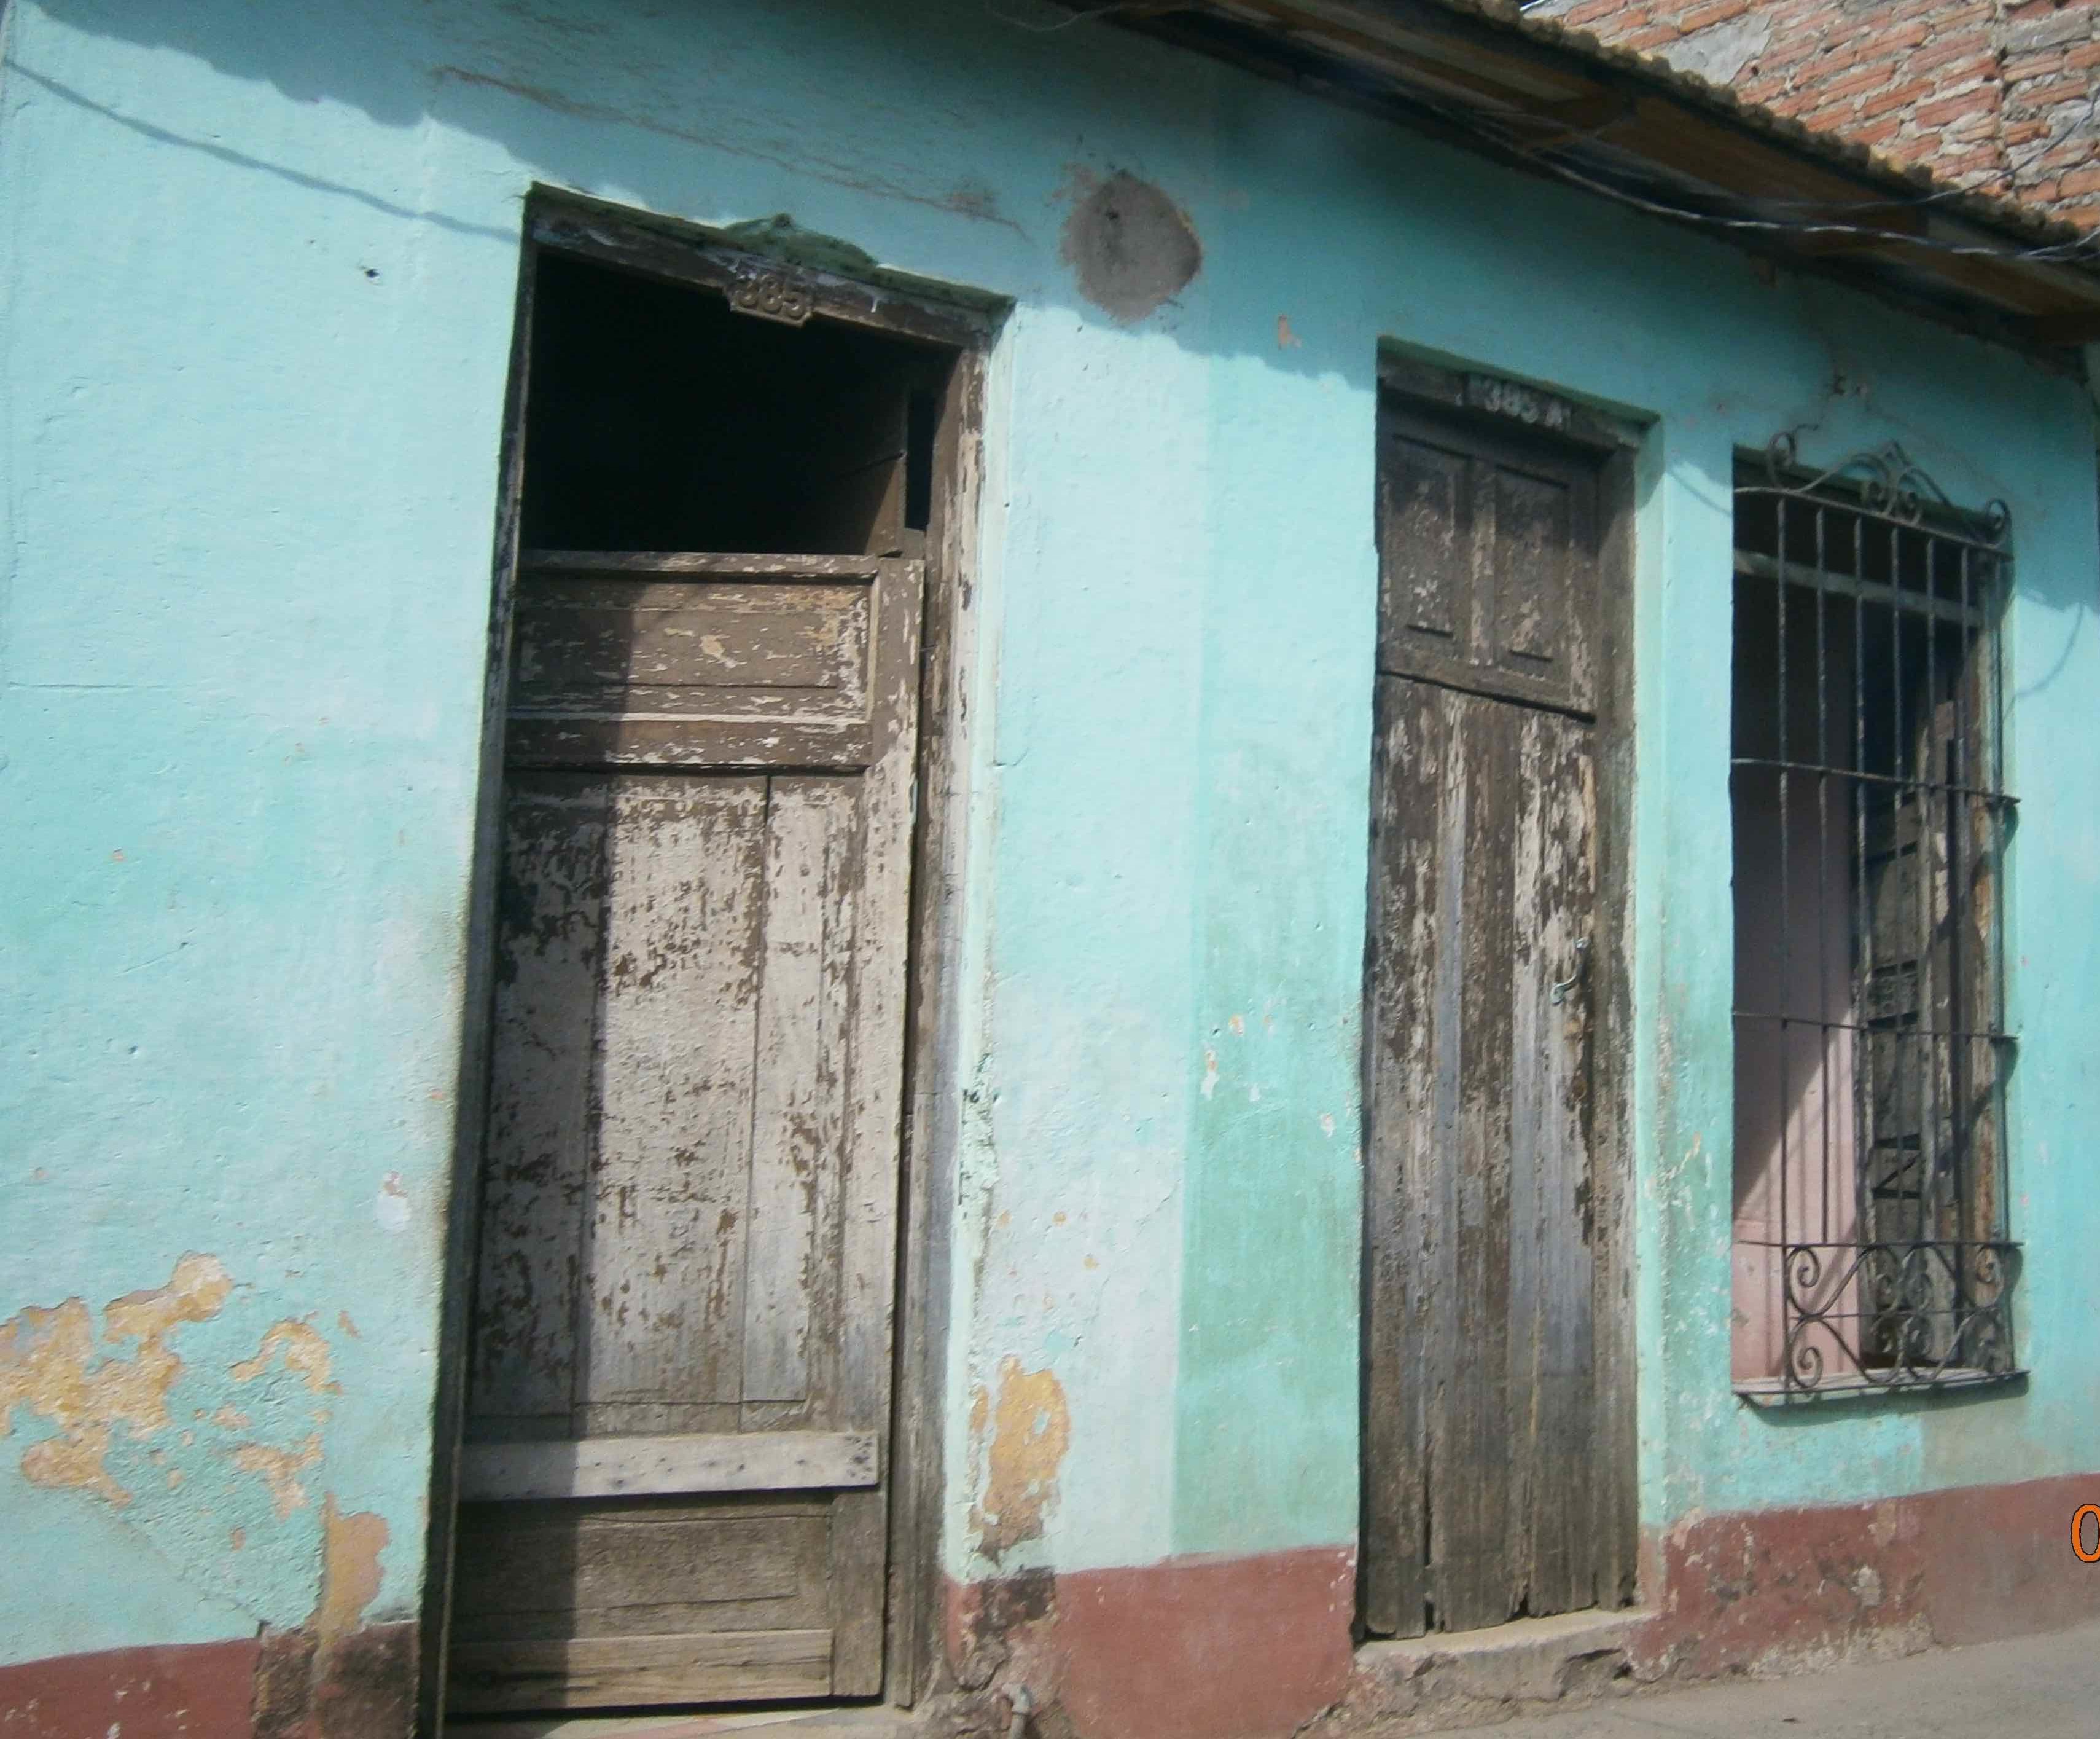
[[[521,571],[454,1710],[880,1689],[920,586]]]

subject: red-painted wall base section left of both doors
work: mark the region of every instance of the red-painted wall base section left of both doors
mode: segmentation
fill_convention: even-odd
[[[407,1623],[0,1665],[0,1739],[405,1739],[414,1705]]]

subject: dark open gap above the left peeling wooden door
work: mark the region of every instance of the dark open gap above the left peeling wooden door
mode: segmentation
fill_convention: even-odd
[[[523,533],[540,550],[909,554],[949,359],[544,252]]]

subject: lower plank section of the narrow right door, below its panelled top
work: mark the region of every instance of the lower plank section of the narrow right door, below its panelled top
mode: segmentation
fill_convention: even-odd
[[[1590,727],[1378,685],[1365,1611],[1382,1634],[1596,1598]]]

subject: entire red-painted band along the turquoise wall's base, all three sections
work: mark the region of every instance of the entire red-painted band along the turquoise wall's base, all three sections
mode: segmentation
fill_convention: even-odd
[[[1644,1546],[1634,1670],[1697,1678],[2100,1617],[2100,1565],[2071,1550],[2081,1504],[2100,1504],[2100,1474],[1684,1521]],[[991,1701],[1025,1684],[1040,1739],[1285,1739],[1350,1689],[1354,1571],[1336,1546],[949,1588],[949,1665]],[[414,1642],[374,1626],[321,1651],[294,1630],[0,1665],[0,1739],[401,1739]]]

